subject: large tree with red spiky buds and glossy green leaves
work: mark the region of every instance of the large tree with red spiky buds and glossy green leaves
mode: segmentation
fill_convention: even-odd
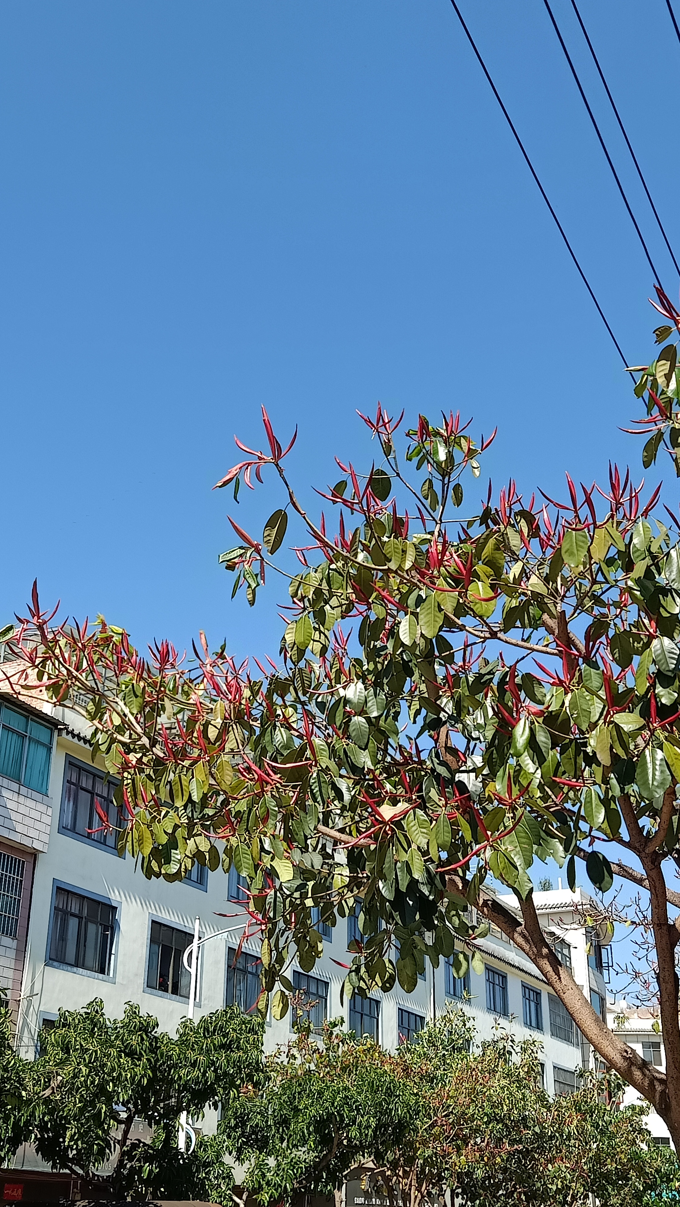
[[[680,313],[658,292],[663,344],[639,371],[635,420],[650,467],[680,465]],[[201,635],[186,669],[166,642],[142,658],[99,618],[57,625],[34,591],[5,664],[18,692],[86,699],[93,751],[119,777],[119,842],[148,876],[180,879],[198,859],[235,863],[263,933],[263,998],[287,1009],[283,968],[321,950],[312,908],[334,923],[360,900],[363,941],[347,990],[404,990],[426,958],[464,970],[487,923],[534,963],[580,1031],[667,1123],[680,1144],[680,1024],[675,969],[680,894],[680,544],[631,476],[528,503],[510,480],[476,514],[463,478],[480,474],[459,416],[365,419],[379,450],[363,476],[322,492],[338,524],[300,505],[266,414],[268,451],[218,483],[253,486],[274,472],[282,507],[262,542],[231,520],[222,555],[251,604],[279,568],[292,515],[301,566],[289,578],[281,664],[236,667]],[[293,438],[294,441],[294,438]],[[666,513],[664,513],[666,515]],[[283,572],[283,567],[281,567]],[[102,818],[102,824],[107,824]],[[217,844],[223,844],[219,849]],[[616,853],[615,853],[616,852]],[[645,892],[667,1072],[612,1034],[544,935],[529,870],[576,864],[598,892],[621,877]],[[486,887],[509,886],[516,906]],[[468,906],[481,914],[471,929]],[[394,958],[398,946],[398,955]]]

